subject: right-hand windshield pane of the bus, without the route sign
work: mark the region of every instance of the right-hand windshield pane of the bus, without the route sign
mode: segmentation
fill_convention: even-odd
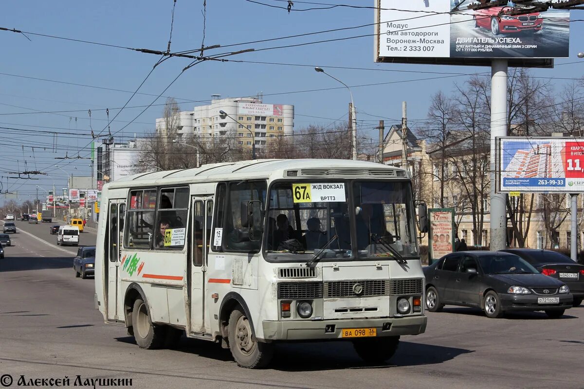
[[[419,255],[409,183],[356,182],[353,195],[360,258]]]

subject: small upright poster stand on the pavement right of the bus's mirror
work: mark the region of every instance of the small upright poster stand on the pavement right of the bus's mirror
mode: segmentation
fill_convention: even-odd
[[[428,210],[428,264],[454,250],[454,208]]]

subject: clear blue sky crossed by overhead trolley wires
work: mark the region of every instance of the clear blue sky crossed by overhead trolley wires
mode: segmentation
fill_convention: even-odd
[[[274,0],[263,2],[280,5]],[[324,1],[327,2],[327,1]],[[373,5],[373,1],[328,1],[352,5]],[[121,45],[132,48],[166,50],[169,38],[172,0],[142,1],[28,1],[3,2],[0,12],[0,27],[15,28],[32,33],[69,37],[79,40]],[[296,8],[310,5],[296,3]],[[203,0],[177,0],[171,51],[198,48],[201,45]],[[573,11],[577,19],[581,11]],[[334,8],[292,12],[269,8],[245,0],[207,0],[206,45],[228,45],[265,38],[359,26],[373,23],[372,9]],[[584,70],[584,60],[576,57],[579,47],[576,37],[583,35],[582,23],[572,23],[572,45],[570,58],[558,59],[555,69],[539,69],[534,75],[549,78],[579,78]],[[372,34],[373,27],[339,31],[315,36],[292,38],[269,43],[249,44],[234,48],[215,49],[207,54],[242,48],[265,48],[283,44],[303,43],[328,38],[350,37]],[[126,103],[130,93],[46,82],[16,76],[43,78],[62,82],[79,83],[112,89],[133,91],[150,72],[157,61],[155,55],[142,54],[113,47],[58,40],[55,38],[0,31],[0,127],[41,129],[44,131],[73,132],[80,135],[63,135],[54,139],[51,134],[0,129],[3,134],[0,146],[0,173],[2,190],[18,190],[19,197],[36,193],[36,185],[48,189],[53,181],[57,188],[65,187],[65,173],[55,169],[55,162],[69,174],[89,175],[89,160],[56,160],[54,157],[77,155],[77,150],[86,146],[90,122],[88,110],[92,110],[91,128],[99,133],[106,125],[105,108],[110,108],[110,117]],[[411,123],[426,117],[430,96],[438,90],[450,92],[454,82],[462,83],[465,76],[443,78],[445,73],[489,72],[488,68],[465,66],[375,64],[373,62],[373,37],[305,45],[296,48],[267,50],[241,54],[234,59],[246,61],[285,62],[322,66],[331,75],[352,87],[357,119],[361,127],[359,136],[376,138],[380,117],[401,117],[401,101],[408,101]],[[579,62],[583,61],[583,62]],[[184,58],[171,58],[157,67],[142,86],[140,92],[158,94],[188,64]],[[326,66],[347,66],[377,70],[332,69]],[[404,73],[393,71],[413,71]],[[436,73],[427,73],[436,72]],[[9,75],[12,76],[9,76]],[[442,77],[442,78],[441,78]],[[436,78],[436,79],[431,79]],[[403,82],[407,81],[407,82]],[[391,84],[390,82],[398,82]],[[356,87],[357,85],[390,83],[386,85]],[[558,80],[559,86],[564,83]],[[349,93],[346,90],[324,90],[319,92],[289,93],[303,90],[338,87],[331,78],[315,72],[312,67],[275,66],[258,64],[221,63],[208,61],[185,72],[165,93],[187,100],[208,100],[211,94],[223,97],[253,96],[265,94],[266,103],[294,104],[296,106],[296,129],[309,124],[330,124],[345,118]],[[268,96],[272,93],[274,96]],[[128,106],[145,106],[154,97],[137,95]],[[159,99],[155,104],[164,103]],[[180,103],[181,100],[179,100]],[[181,104],[192,110],[194,103]],[[32,113],[33,110],[75,111],[70,113]],[[119,131],[127,121],[133,120],[142,108],[126,108],[111,125],[112,132]],[[135,122],[118,135],[133,136],[154,129],[155,118],[161,115],[161,106],[152,106]],[[77,117],[77,121],[75,118]],[[126,121],[126,122],[124,122]],[[385,120],[385,125],[394,121]],[[37,127],[33,127],[37,126]],[[22,145],[25,145],[23,150]],[[34,153],[30,145],[35,148]],[[57,150],[53,152],[53,145]],[[46,149],[43,149],[46,148]],[[88,149],[82,150],[86,156]],[[29,170],[42,170],[48,176],[41,180],[6,179],[6,171],[24,170],[23,160]],[[77,167],[77,169],[74,169]],[[11,175],[13,176],[13,175]],[[8,183],[8,187],[6,186]],[[44,192],[39,191],[39,195]],[[0,197],[3,201],[3,196]]]

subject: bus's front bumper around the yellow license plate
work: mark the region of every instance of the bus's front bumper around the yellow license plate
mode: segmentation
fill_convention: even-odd
[[[376,328],[377,337],[418,335],[426,331],[426,316],[386,317],[350,320],[291,320],[262,321],[263,339],[260,341],[301,341],[342,339],[345,328]],[[345,338],[346,339],[346,338]]]

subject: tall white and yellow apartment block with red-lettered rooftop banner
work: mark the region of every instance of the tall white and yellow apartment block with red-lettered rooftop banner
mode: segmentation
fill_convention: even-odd
[[[158,135],[168,134],[169,127],[178,138],[235,136],[242,148],[251,148],[254,141],[257,148],[266,148],[278,136],[292,135],[294,106],[264,104],[259,97],[221,99],[214,94],[210,104],[156,120]]]

